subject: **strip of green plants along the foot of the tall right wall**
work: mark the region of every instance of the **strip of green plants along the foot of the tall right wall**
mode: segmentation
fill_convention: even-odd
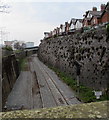
[[[50,69],[55,71],[55,73],[62,79],[68,86],[70,86],[76,94],[76,97],[85,103],[88,102],[96,102],[96,101],[103,101],[103,100],[109,100],[109,97],[107,97],[107,94],[104,94],[101,96],[99,100],[96,99],[93,89],[86,87],[82,84],[80,86],[77,86],[76,80],[72,78],[72,76],[69,76],[68,74],[61,72],[59,69],[48,66]]]

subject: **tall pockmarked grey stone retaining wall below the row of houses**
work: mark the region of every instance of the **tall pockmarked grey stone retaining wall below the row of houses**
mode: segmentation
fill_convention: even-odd
[[[109,38],[105,28],[43,40],[39,58],[95,90],[109,80]]]

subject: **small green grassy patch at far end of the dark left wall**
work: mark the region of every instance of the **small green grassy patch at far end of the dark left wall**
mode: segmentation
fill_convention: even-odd
[[[20,69],[20,71],[28,70],[28,60],[27,60],[27,58],[19,59],[19,69]]]

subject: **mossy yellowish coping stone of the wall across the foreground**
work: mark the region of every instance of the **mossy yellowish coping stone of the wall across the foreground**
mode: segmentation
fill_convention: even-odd
[[[1,112],[0,118],[109,118],[109,101]]]

